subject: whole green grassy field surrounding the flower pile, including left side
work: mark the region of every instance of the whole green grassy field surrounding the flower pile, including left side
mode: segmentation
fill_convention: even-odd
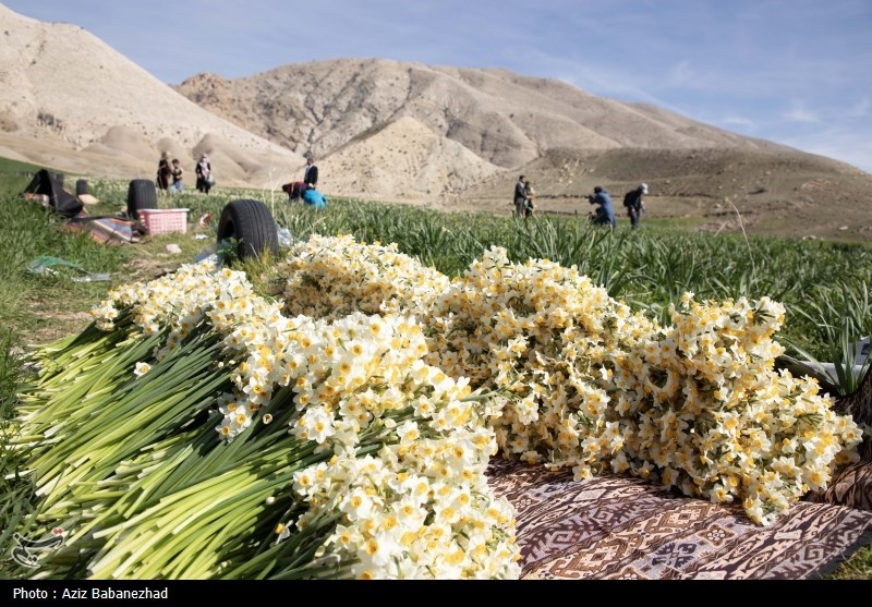
[[[846,344],[872,333],[872,247],[785,239],[702,234],[692,226],[644,221],[630,231],[627,222],[607,231],[572,217],[517,220],[487,214],[444,214],[432,209],[390,206],[355,199],[331,199],[324,210],[291,205],[282,192],[217,190],[205,196],[161,195],[165,208],[189,208],[186,234],[146,238],[137,244],[100,245],[85,234],[62,230],[62,220],[19,194],[38,167],[0,161],[0,403],[8,418],[15,405],[20,357],[29,344],[43,344],[76,333],[89,323],[88,311],[106,291],[131,280],[150,279],[194,259],[215,244],[215,226],[225,205],[255,198],[266,203],[278,226],[293,238],[350,233],[359,241],[397,243],[448,276],[467,268],[494,245],[508,250],[512,260],[548,258],[576,266],[609,295],[668,320],[669,305],[682,293],[698,299],[768,295],[785,304],[787,317],[778,340],[802,357],[845,363]],[[76,175],[68,175],[68,183]],[[126,182],[89,179],[89,192],[100,203],[90,215],[116,215],[126,206]],[[68,190],[69,190],[68,185]],[[211,221],[198,229],[206,215]],[[205,235],[205,238],[204,238]],[[181,254],[167,252],[177,244]],[[109,274],[107,282],[76,282],[75,270],[37,276],[28,264],[39,256],[65,259],[88,272]],[[251,264],[254,282],[266,284],[268,264]],[[798,350],[797,350],[798,349]],[[834,378],[850,391],[849,376]],[[2,446],[0,446],[2,448]],[[0,546],[10,545],[17,521],[29,508],[29,485],[16,477],[20,462],[3,449],[0,485]],[[5,569],[0,564],[0,576]],[[872,579],[872,547],[859,550],[829,575]]]

